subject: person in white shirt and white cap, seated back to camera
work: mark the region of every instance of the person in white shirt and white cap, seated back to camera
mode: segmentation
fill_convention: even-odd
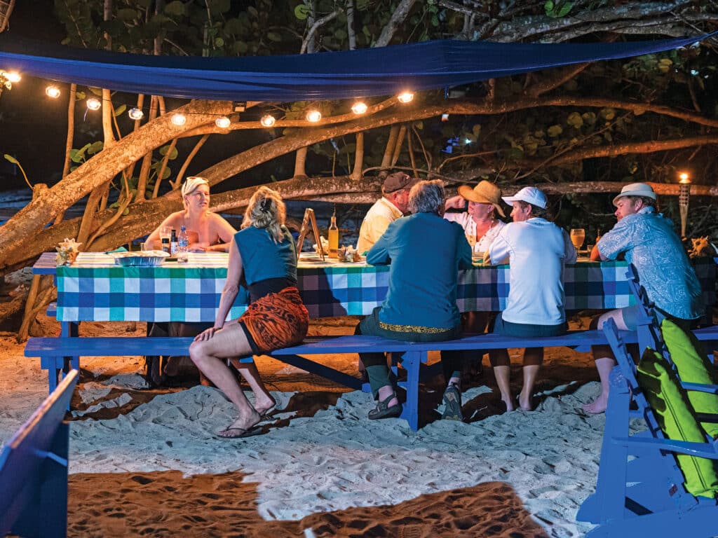
[[[569,235],[546,216],[546,195],[536,187],[524,187],[513,197],[513,222],[503,227],[487,251],[491,263],[508,257],[510,288],[505,310],[496,319],[494,332],[507,336],[558,336],[567,330],[564,312],[564,264],[576,261]],[[506,410],[514,409],[509,386],[508,351],[490,355]],[[518,405],[531,410],[531,395],[544,348],[523,352],[523,388]]]

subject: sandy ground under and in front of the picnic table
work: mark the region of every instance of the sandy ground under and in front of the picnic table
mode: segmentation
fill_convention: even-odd
[[[80,334],[129,330],[83,324]],[[14,336],[0,333],[0,441],[47,393],[39,359],[24,358]],[[319,359],[355,373],[356,356]],[[438,420],[441,380],[425,384],[417,432],[403,420],[368,420],[367,394],[263,357],[278,410],[258,435],[238,440],[215,437],[233,418],[215,389],[147,390],[139,357],[82,367],[70,536],[564,538],[591,528],[575,519],[595,489],[604,425],[580,410],[599,391],[589,354],[547,353],[533,412],[502,413],[488,367],[465,387],[467,423]]]

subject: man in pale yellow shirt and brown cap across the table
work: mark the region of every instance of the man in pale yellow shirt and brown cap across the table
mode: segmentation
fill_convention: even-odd
[[[379,237],[386,232],[391,222],[404,217],[409,204],[409,191],[419,181],[404,172],[394,172],[384,179],[381,187],[382,197],[369,209],[359,230],[357,250],[365,253]]]

